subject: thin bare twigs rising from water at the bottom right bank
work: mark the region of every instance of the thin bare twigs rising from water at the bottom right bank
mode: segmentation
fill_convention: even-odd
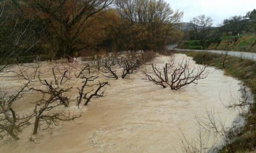
[[[241,126],[227,127],[226,119],[222,119],[220,115],[215,115],[214,109],[206,110],[206,116],[196,116],[198,130],[198,138],[190,139],[181,130],[182,134],[182,151],[184,153],[215,153],[224,145],[230,145],[235,137],[241,132]],[[214,134],[212,134],[212,130]],[[214,142],[209,143],[211,135]]]

